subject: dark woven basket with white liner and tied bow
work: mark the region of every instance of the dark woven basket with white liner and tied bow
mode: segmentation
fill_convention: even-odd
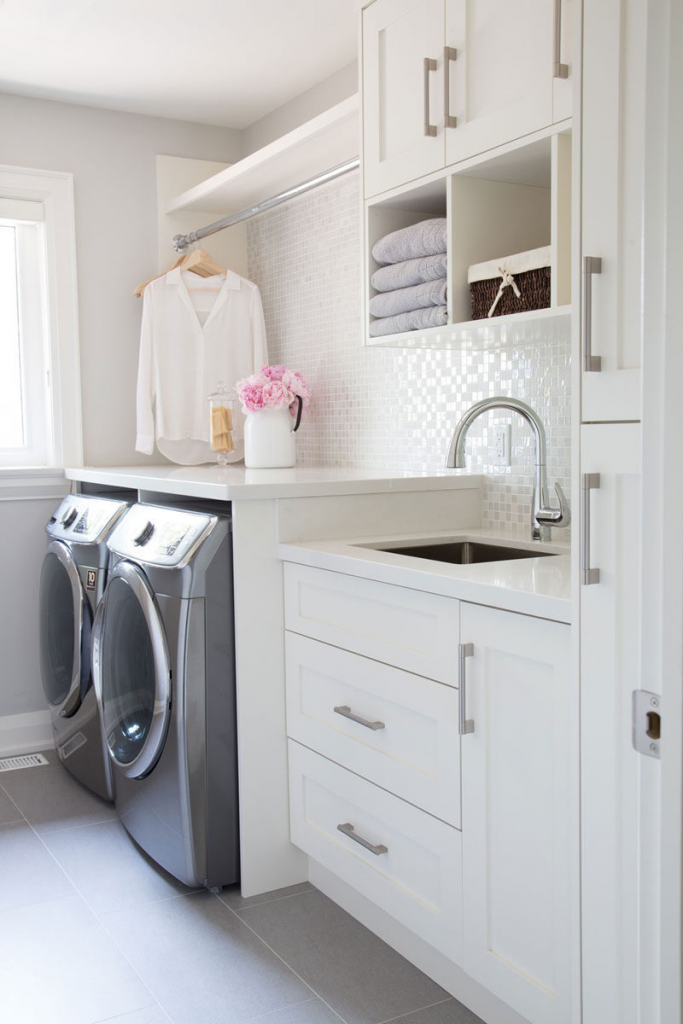
[[[508,285],[503,288],[496,302],[503,271],[512,275],[519,296],[512,285]],[[476,263],[469,268],[467,278],[472,300],[472,319],[528,312],[529,309],[546,309],[550,306],[550,246],[486,263]],[[489,313],[494,303],[495,309]]]

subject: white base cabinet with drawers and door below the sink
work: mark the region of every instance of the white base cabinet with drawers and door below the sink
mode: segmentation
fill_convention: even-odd
[[[286,579],[292,842],[529,1024],[575,1024],[569,627],[324,569]]]

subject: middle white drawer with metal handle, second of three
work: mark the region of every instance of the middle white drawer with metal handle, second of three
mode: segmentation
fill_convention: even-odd
[[[458,690],[296,633],[286,653],[288,734],[459,827]]]

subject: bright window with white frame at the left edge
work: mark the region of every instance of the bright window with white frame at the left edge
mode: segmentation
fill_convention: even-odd
[[[71,175],[0,167],[0,479],[82,461]]]

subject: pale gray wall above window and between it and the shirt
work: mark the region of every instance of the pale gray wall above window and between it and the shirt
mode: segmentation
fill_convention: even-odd
[[[74,175],[89,465],[159,462],[134,452],[140,300],[131,294],[157,268],[157,154],[231,163],[242,132],[0,95],[0,162]]]

